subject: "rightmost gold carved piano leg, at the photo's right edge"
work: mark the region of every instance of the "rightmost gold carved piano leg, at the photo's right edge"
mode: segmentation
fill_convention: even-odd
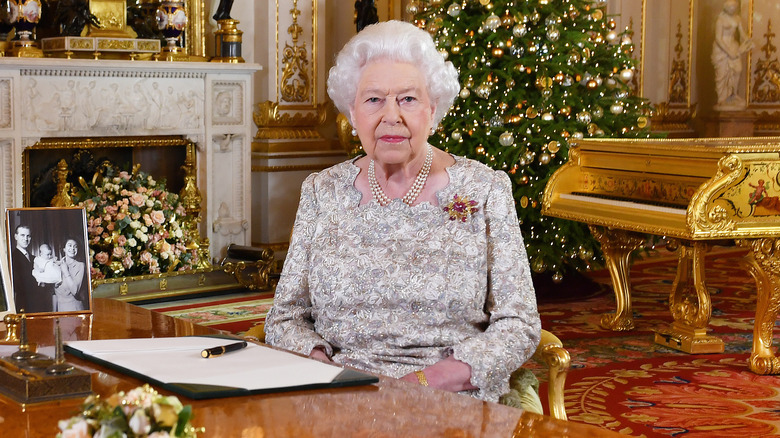
[[[753,351],[748,364],[756,374],[780,374],[780,359],[772,348],[772,329],[780,308],[780,239],[738,240],[750,248],[745,258],[748,272],[756,281],[756,321],[753,325]]]

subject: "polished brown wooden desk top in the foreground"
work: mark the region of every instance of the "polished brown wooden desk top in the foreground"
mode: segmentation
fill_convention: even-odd
[[[218,331],[131,304],[95,299],[94,315],[60,318],[63,338],[119,339],[213,334]],[[53,344],[52,319],[28,320],[31,342]],[[91,335],[91,336],[90,336]],[[93,391],[109,395],[143,382],[68,355],[92,374]],[[164,391],[162,391],[164,392]],[[625,437],[471,397],[381,377],[378,384],[212,400],[190,400],[203,438],[241,437]],[[46,437],[74,414],[81,399],[22,407],[0,396],[2,436]]]

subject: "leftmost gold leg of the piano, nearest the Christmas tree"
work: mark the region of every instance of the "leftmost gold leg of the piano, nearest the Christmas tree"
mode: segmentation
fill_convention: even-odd
[[[604,261],[612,278],[615,291],[615,313],[601,315],[601,327],[613,331],[625,331],[634,328],[634,315],[631,310],[631,252],[645,243],[645,237],[625,230],[589,226],[591,233],[601,244]]]

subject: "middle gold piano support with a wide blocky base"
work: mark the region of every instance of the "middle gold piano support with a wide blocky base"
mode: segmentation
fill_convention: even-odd
[[[723,340],[707,335],[712,302],[704,281],[704,254],[709,244],[680,243],[677,275],[669,295],[674,322],[668,328],[656,330],[655,342],[686,353],[722,353]]]

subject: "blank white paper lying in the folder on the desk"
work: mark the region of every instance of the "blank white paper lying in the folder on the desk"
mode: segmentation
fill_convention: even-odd
[[[69,341],[67,345],[165,384],[219,385],[252,391],[327,384],[343,371],[338,366],[252,343],[222,356],[201,356],[206,348],[238,341],[186,336]]]

